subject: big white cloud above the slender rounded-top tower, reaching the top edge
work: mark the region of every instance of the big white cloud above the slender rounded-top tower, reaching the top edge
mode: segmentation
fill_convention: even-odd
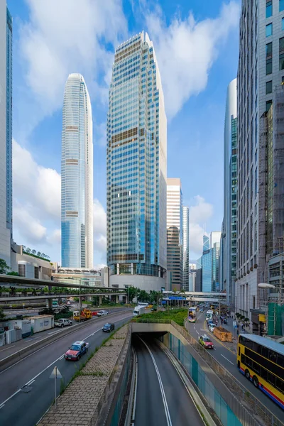
[[[121,0],[27,3],[28,21],[21,23],[18,47],[30,92],[25,93],[29,99],[26,106],[28,112],[34,112],[29,117],[30,126],[62,106],[64,85],[71,72],[82,73],[89,92],[102,96],[104,102],[113,61],[109,50],[120,37],[126,37]]]

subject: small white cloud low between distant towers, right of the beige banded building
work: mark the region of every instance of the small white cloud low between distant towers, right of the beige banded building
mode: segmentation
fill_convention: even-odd
[[[204,228],[207,220],[213,215],[213,206],[196,195],[194,205],[190,207],[190,259],[199,258],[202,254]]]

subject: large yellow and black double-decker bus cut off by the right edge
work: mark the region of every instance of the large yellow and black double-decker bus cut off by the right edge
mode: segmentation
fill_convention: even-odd
[[[284,409],[284,345],[256,334],[240,334],[239,371]]]

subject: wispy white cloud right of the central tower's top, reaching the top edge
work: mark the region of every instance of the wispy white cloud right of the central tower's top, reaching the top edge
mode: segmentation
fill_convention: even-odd
[[[239,25],[239,4],[236,1],[224,4],[214,19],[195,21],[191,12],[184,20],[176,16],[169,26],[157,8],[146,12],[146,23],[158,58],[167,114],[171,118],[192,94],[205,89],[220,44]]]

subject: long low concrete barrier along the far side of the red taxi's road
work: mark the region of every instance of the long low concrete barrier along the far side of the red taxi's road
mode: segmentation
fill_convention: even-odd
[[[107,315],[107,317],[110,317],[111,315],[120,314],[123,312],[129,312],[129,310],[123,310],[119,312],[113,312],[112,314]],[[99,317],[99,319],[104,317]],[[33,354],[33,352],[38,351],[40,349],[43,349],[45,346],[48,346],[49,344],[52,344],[56,342],[57,340],[61,339],[62,337],[67,336],[68,334],[72,334],[76,332],[79,329],[82,329],[84,327],[87,327],[91,322],[97,322],[95,321],[95,318],[92,318],[89,321],[82,322],[82,324],[73,325],[72,327],[67,327],[66,329],[63,329],[62,331],[52,334],[51,336],[45,337],[44,339],[39,340],[38,342],[34,342],[28,346],[26,346],[23,349],[20,349],[19,351],[14,352],[13,354],[6,356],[6,358],[0,360],[0,372],[5,370],[6,368],[9,368],[13,364],[15,364],[18,361],[21,361],[21,359],[25,358],[26,356],[29,356]]]

